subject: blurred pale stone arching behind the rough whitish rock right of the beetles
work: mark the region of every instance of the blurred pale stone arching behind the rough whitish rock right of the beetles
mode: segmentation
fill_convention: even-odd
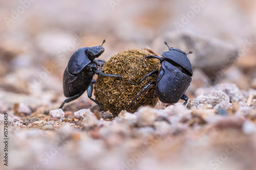
[[[245,100],[242,92],[240,89],[237,87],[236,84],[232,83],[222,83],[222,84],[217,84],[215,86],[211,87],[202,87],[196,90],[195,94],[196,95],[208,95],[216,90],[222,90],[224,93],[226,93],[229,97],[229,102],[238,102],[238,101],[243,101]]]

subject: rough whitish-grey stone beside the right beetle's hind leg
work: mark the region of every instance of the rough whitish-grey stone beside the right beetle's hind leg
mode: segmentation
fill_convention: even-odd
[[[190,109],[193,106],[195,106],[197,108],[198,107],[202,108],[202,105],[211,105],[212,107],[215,107],[217,105],[216,108],[218,108],[218,109],[221,106],[224,106],[225,108],[232,107],[232,105],[229,103],[228,95],[226,93],[224,93],[222,90],[214,91],[207,96],[199,95],[198,98],[191,99],[187,104],[187,108]],[[225,106],[225,105],[227,105],[227,106]]]

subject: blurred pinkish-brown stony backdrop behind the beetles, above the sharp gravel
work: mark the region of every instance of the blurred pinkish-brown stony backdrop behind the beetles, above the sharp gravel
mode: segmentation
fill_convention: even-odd
[[[59,104],[65,99],[62,74],[71,55],[103,39],[103,60],[127,48],[150,47],[161,55],[167,50],[164,40],[194,51],[189,55],[196,72],[190,96],[207,82],[256,88],[255,8],[253,0],[1,0],[0,106]],[[227,63],[228,55],[234,60]]]

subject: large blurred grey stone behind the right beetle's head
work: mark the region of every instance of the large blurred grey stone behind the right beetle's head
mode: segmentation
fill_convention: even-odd
[[[188,55],[193,68],[202,69],[208,76],[215,76],[238,57],[238,47],[232,43],[193,32],[166,32],[154,41],[152,46],[155,51],[166,51],[164,41],[184,52],[193,51],[193,54]]]

